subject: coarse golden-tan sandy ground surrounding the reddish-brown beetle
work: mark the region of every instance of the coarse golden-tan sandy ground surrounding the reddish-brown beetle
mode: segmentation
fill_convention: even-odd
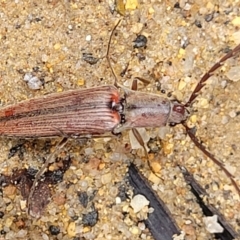
[[[112,84],[114,78],[102,57],[111,30],[120,18],[122,23],[112,41],[112,64],[118,75],[129,61],[130,64],[119,82],[130,86],[131,80],[140,76],[150,81],[140,91],[167,97],[156,87],[160,82],[166,93],[171,92],[186,102],[200,77],[227,49],[240,43],[237,0],[198,2],[180,1],[178,6],[176,1],[144,0],[123,17],[111,13],[111,3],[105,1],[1,1],[1,105],[53,92]],[[147,48],[132,54],[133,41],[139,34],[147,37]],[[83,53],[101,59],[91,65],[83,60]],[[145,60],[139,61],[142,56]],[[233,67],[238,67],[239,59],[237,56],[229,60],[208,81],[194,103],[193,117],[189,120],[189,124],[196,126],[198,138],[236,177],[238,186],[240,81],[232,81],[228,76]],[[23,81],[26,73],[44,79],[40,90],[30,89]],[[162,179],[155,179],[152,184],[186,233],[185,239],[214,238],[206,231],[201,209],[186,186],[178,164],[189,169],[206,188],[208,201],[240,233],[239,195],[229,179],[196,149],[181,125],[164,131],[149,129],[147,134],[156,137],[165,130],[164,141],[154,142],[159,151],[151,155],[152,160],[160,163]],[[59,138],[51,139],[51,151],[58,141]],[[39,169],[43,157],[49,154],[43,148],[46,142],[49,141],[29,140],[23,160],[17,155],[8,159],[9,149],[18,140],[2,138],[1,172],[11,174],[13,169],[23,167]],[[92,139],[86,143],[71,140],[61,156],[68,154],[73,164],[64,181],[54,186],[55,198],[40,219],[31,218],[21,210],[22,197],[18,191],[3,190],[0,239],[153,239],[140,226],[141,219],[134,215],[129,200],[116,203],[118,189],[125,185],[129,162],[135,162],[146,177],[151,176],[143,152],[131,150],[129,132],[120,138]],[[98,221],[93,227],[82,223],[83,214],[90,212],[92,205],[84,208],[80,204],[80,191],[88,194],[97,191],[91,201],[98,210]],[[58,204],[56,199],[61,194],[65,200]],[[20,220],[24,224],[19,224]],[[51,225],[60,229],[58,235],[50,232]]]

